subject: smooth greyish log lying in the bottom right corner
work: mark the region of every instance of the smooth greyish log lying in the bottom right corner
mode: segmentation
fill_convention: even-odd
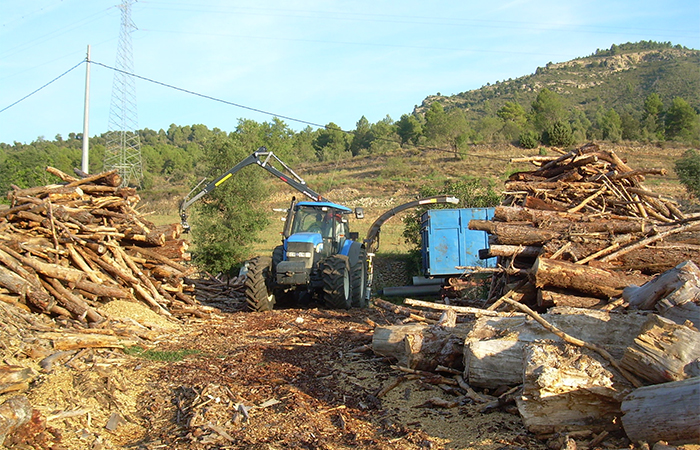
[[[700,444],[700,377],[639,388],[622,402],[632,442]]]

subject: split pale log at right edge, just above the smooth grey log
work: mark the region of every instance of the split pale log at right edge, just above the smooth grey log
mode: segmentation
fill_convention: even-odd
[[[651,315],[620,365],[651,383],[700,376],[700,332]]]

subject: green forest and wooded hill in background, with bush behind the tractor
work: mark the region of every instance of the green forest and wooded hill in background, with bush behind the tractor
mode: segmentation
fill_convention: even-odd
[[[146,128],[137,132],[143,162],[138,187],[144,198],[182,198],[199,180],[217,177],[261,146],[297,168],[312,162],[400,155],[415,148],[440,149],[460,159],[474,156],[471,149],[484,144],[566,149],[608,141],[687,146],[676,168],[689,192],[695,189],[697,195],[700,154],[693,147],[700,146],[698,67],[700,51],[640,42],[549,64],[533,75],[478,90],[430,96],[396,121],[387,116],[369,123],[363,116],[354,130],[329,123],[325,128],[295,131],[278,118],[262,123],[239,119],[232,131],[204,124]],[[91,173],[103,170],[105,144],[106,134],[90,138]],[[0,143],[0,190],[56,182],[45,167],[71,173],[80,167],[81,153],[80,133],[38,138],[30,144]],[[245,259],[256,233],[267,225],[267,214],[260,209],[269,195],[267,176],[248,171],[198,205],[193,238],[200,261],[212,270]],[[6,198],[0,201],[7,203]]]

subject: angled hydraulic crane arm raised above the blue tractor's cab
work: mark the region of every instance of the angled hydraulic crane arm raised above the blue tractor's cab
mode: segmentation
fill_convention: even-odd
[[[270,160],[275,160],[277,163],[282,165],[284,170],[289,172],[289,175],[286,175],[284,172],[276,169],[274,166],[270,164]],[[328,201],[328,199],[324,198],[321,196],[321,194],[317,193],[313,189],[309,188],[306,185],[306,182],[299,176],[297,175],[289,166],[287,166],[281,159],[279,159],[274,153],[271,151],[268,151],[267,148],[265,147],[260,147],[257,151],[253,152],[250,156],[248,156],[246,159],[243,161],[239,162],[232,168],[230,168],[226,173],[221,175],[219,178],[216,180],[212,181],[211,183],[207,184],[204,189],[202,189],[197,195],[195,195],[192,198],[189,198],[192,192],[187,194],[187,196],[182,200],[180,203],[180,220],[182,221],[182,227],[184,228],[185,232],[189,231],[190,225],[187,223],[187,208],[192,206],[193,203],[198,201],[200,198],[204,197],[211,191],[213,191],[216,187],[221,185],[223,182],[231,178],[236,172],[241,170],[244,167],[250,166],[251,164],[257,164],[258,166],[262,167],[263,169],[267,170],[270,172],[272,175],[276,176],[280,180],[284,181],[288,185],[292,186],[294,189],[297,191],[301,192],[302,194],[306,195],[310,199],[321,202],[321,201]]]

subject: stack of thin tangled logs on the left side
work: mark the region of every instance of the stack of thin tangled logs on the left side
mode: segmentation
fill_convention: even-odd
[[[87,324],[101,302],[143,302],[171,316],[196,309],[183,279],[187,242],[179,224],[155,226],[134,208],[136,190],[116,171],[8,193],[0,211],[0,300]]]

